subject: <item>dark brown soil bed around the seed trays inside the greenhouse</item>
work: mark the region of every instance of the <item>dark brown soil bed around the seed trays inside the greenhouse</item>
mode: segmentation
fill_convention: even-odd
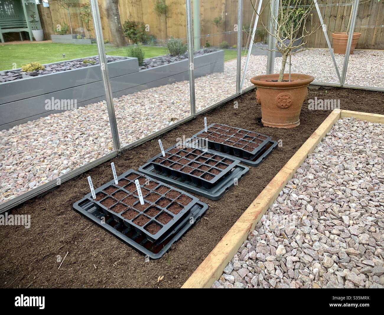
[[[341,108],[384,114],[384,93],[342,88],[309,90],[308,98],[340,99]],[[238,108],[233,108],[233,102]],[[209,204],[204,217],[184,237],[172,245],[161,259],[145,262],[145,257],[113,235],[74,212],[72,205],[89,193],[87,176],[94,187],[113,179],[116,172],[137,170],[159,152],[157,138],[119,157],[95,167],[78,178],[63,183],[43,197],[36,197],[13,209],[13,214],[30,214],[31,227],[0,228],[1,287],[180,287],[232,227],[257,195],[283,165],[329,115],[327,110],[308,110],[305,101],[300,126],[293,129],[263,127],[255,92],[227,102],[201,117],[162,135],[164,148],[177,138],[190,137],[209,123],[217,122],[255,130],[282,140],[258,167],[250,172],[219,200],[197,196]],[[60,259],[68,252],[60,269]],[[164,278],[157,283],[157,279]]]

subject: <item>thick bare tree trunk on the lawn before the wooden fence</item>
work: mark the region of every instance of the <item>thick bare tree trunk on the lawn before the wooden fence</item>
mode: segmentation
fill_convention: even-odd
[[[116,47],[126,46],[127,42],[125,41],[124,33],[122,32],[120,20],[119,0],[106,0],[105,10],[112,35],[112,38],[108,38],[109,41]]]

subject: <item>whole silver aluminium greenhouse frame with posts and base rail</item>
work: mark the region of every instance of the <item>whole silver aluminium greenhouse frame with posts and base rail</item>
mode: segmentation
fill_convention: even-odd
[[[193,1],[193,0],[192,0]],[[260,12],[260,8],[262,5],[262,0],[258,0],[258,12]],[[270,0],[271,5],[274,8],[273,12],[275,16],[278,14],[278,1],[279,0]],[[352,44],[352,35],[353,35],[353,30],[355,27],[355,22],[356,22],[356,16],[357,16],[357,10],[359,7],[359,0],[354,0],[354,7],[353,7],[353,14],[352,14],[352,19],[350,23],[350,28],[349,28],[349,37],[348,37],[348,43],[347,43],[347,48],[346,48],[346,55],[344,58],[344,65],[343,65],[343,72],[339,73],[338,67],[336,65],[335,59],[334,59],[334,54],[333,50],[331,48],[330,42],[328,35],[326,33],[326,27],[323,24],[323,19],[321,17],[321,13],[319,11],[319,5],[317,3],[317,0],[314,0],[315,6],[316,6],[316,11],[319,15],[319,20],[322,24],[323,27],[323,32],[324,36],[326,37],[326,42],[329,48],[329,51],[331,52],[331,56],[333,58],[333,63],[334,67],[336,70],[336,73],[338,74],[339,78],[339,83],[326,83],[326,82],[312,82],[311,84],[313,85],[322,85],[322,86],[328,86],[328,87],[344,87],[344,88],[358,88],[358,89],[366,89],[366,90],[374,90],[374,91],[381,91],[384,92],[384,88],[381,87],[366,87],[366,86],[358,86],[358,85],[348,85],[345,84],[345,78],[346,78],[346,72],[348,68],[348,62],[349,62],[349,52],[351,49],[351,44]],[[196,108],[195,108],[195,82],[194,82],[194,36],[193,36],[193,23],[192,23],[192,5],[191,5],[191,0],[185,0],[185,10],[186,10],[186,15],[187,15],[187,45],[188,45],[188,55],[190,56],[189,58],[189,85],[190,85],[190,115],[188,117],[183,118],[182,120],[179,120],[176,123],[173,123],[172,125],[167,126],[166,128],[163,128],[157,132],[152,133],[151,135],[148,135],[140,140],[137,140],[133,143],[130,143],[129,145],[126,145],[124,147],[121,147],[120,141],[119,141],[119,133],[118,133],[118,126],[117,126],[117,121],[116,121],[116,115],[114,111],[114,104],[113,104],[113,97],[112,97],[112,90],[111,90],[111,82],[109,78],[109,73],[108,73],[108,65],[107,65],[107,60],[106,60],[106,53],[105,53],[105,48],[104,48],[104,38],[103,38],[103,30],[102,30],[102,25],[101,25],[101,18],[99,14],[99,5],[98,5],[98,0],[90,0],[91,3],[91,10],[92,10],[92,16],[93,16],[93,21],[94,21],[94,28],[95,28],[95,35],[96,35],[96,42],[97,42],[97,47],[98,47],[98,53],[99,53],[99,58],[100,58],[100,64],[101,64],[101,73],[103,77],[103,84],[104,84],[104,92],[106,95],[106,103],[107,103],[107,108],[108,108],[108,116],[109,116],[109,123],[111,127],[111,133],[112,133],[112,139],[113,139],[113,144],[114,144],[114,151],[111,153],[108,153],[107,155],[104,155],[101,158],[98,158],[94,160],[93,162],[90,162],[86,165],[83,165],[79,168],[76,168],[58,178],[55,180],[52,180],[51,182],[45,183],[43,185],[40,185],[36,187],[33,190],[30,190],[28,192],[23,193],[22,195],[15,197],[11,200],[8,200],[7,202],[4,202],[0,204],[0,213],[5,212],[7,210],[12,209],[13,207],[25,202],[26,200],[29,200],[33,197],[42,195],[46,192],[52,191],[55,188],[58,188],[58,186],[61,185],[61,183],[66,182],[67,180],[70,180],[74,177],[77,177],[81,175],[82,173],[88,171],[89,169],[104,163],[108,160],[111,160],[112,158],[118,156],[121,154],[122,151],[128,150],[134,147],[137,147],[138,145],[151,140],[153,138],[159,137],[161,134],[166,133],[167,131],[189,121],[194,119],[195,117],[204,114],[205,112],[212,110],[215,107],[218,107],[222,105],[225,102],[228,102],[229,100],[238,97],[239,95],[246,93],[250,90],[252,90],[254,87],[250,86],[248,88],[245,88],[244,90],[242,89],[245,81],[245,73],[247,71],[248,63],[249,63],[249,58],[250,58],[250,51],[253,45],[253,39],[255,37],[255,30],[257,27],[257,22],[258,22],[258,14],[256,14],[255,17],[255,23],[253,26],[253,31],[252,31],[252,38],[250,41],[250,49],[248,50],[248,55],[247,55],[247,60],[245,62],[245,70],[243,76],[241,75],[241,52],[242,52],[242,27],[239,27],[239,25],[242,25],[242,12],[243,12],[243,0],[238,0],[238,19],[237,19],[237,75],[236,75],[236,93],[231,95],[230,97],[227,97],[223,100],[220,100],[219,102],[210,105],[209,107],[205,108],[204,110],[199,111],[196,113]],[[255,2],[256,5],[256,2]],[[352,5],[351,4],[346,4],[346,5]],[[255,6],[256,7],[256,6]],[[270,28],[274,27],[274,24],[271,23],[271,19],[269,21]],[[252,20],[251,20],[252,22]],[[352,35],[351,35],[352,34]],[[203,37],[205,35],[202,35]],[[196,41],[197,42],[197,41]],[[245,43],[247,45],[247,43]],[[270,38],[270,41],[268,45],[275,45],[273,39]],[[248,45],[247,45],[248,46]],[[271,47],[268,47],[271,49]],[[274,51],[268,51],[268,59],[267,59],[267,72],[266,73],[273,73],[273,64],[274,64],[274,59],[275,59],[275,52]]]

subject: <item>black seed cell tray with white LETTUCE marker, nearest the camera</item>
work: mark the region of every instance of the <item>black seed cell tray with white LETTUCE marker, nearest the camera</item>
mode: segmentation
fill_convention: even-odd
[[[137,196],[136,179],[140,183],[144,205],[140,204]],[[95,193],[96,200],[92,199],[91,193],[86,195],[95,207],[151,242],[164,237],[175,223],[189,215],[190,208],[199,200],[134,170],[120,175],[118,185],[111,180],[97,188]]]

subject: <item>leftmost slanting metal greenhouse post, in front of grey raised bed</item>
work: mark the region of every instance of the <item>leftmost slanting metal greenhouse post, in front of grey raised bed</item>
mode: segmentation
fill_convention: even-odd
[[[113,106],[111,81],[109,80],[109,72],[107,65],[107,57],[105,54],[103,28],[101,27],[101,19],[99,12],[98,0],[91,1],[92,18],[95,28],[96,43],[99,52],[101,76],[103,77],[104,92],[107,101],[109,124],[111,125],[112,140],[115,150],[120,149],[119,131],[116,122],[115,108]]]

